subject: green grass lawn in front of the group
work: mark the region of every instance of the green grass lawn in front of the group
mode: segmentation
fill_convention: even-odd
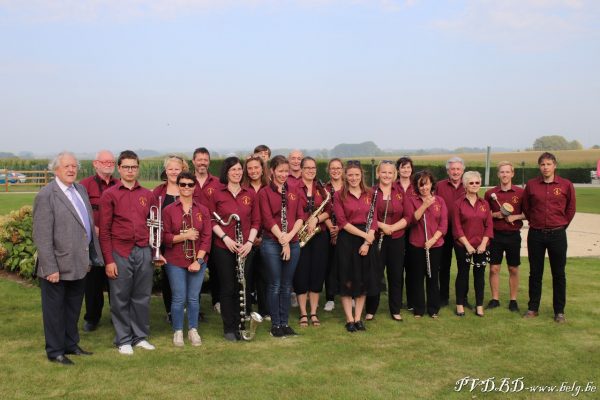
[[[526,309],[528,264],[524,260],[519,295]],[[81,332],[91,357],[73,357],[75,366],[51,364],[44,336],[37,287],[0,279],[0,359],[3,399],[568,399],[572,393],[482,393],[454,390],[463,377],[522,377],[525,387],[558,386],[574,381],[599,386],[600,269],[597,258],[569,259],[568,322],[552,321],[551,277],[544,279],[540,317],[525,320],[507,306],[507,271],[502,271],[502,307],[484,318],[464,318],[443,308],[439,320],[394,322],[382,297],[379,313],[363,333],[346,333],[339,303],[320,312],[322,326],[297,331],[296,338],[275,339],[263,323],[252,342],[222,338],[220,317],[202,298],[208,322],[201,324],[203,345],[175,348],[160,297],[152,299],[150,340],[157,350],[120,356],[112,346],[108,313],[99,329]],[[455,268],[454,268],[455,270]],[[452,290],[453,292],[453,290]],[[489,300],[486,282],[486,302]],[[470,289],[473,299],[473,289]],[[297,309],[291,323],[297,327]],[[577,398],[597,399],[595,393]]]

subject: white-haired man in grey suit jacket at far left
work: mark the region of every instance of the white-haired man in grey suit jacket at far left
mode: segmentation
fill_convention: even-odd
[[[90,265],[103,265],[94,232],[92,206],[75,183],[78,162],[69,152],[50,163],[55,179],[42,188],[33,205],[33,239],[38,249],[37,276],[42,294],[46,354],[59,364],[67,354],[90,355],[79,347],[77,322]]]

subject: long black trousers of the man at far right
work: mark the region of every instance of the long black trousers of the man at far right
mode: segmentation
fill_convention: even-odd
[[[552,306],[555,314],[565,312],[567,296],[567,232],[565,229],[552,231],[529,229],[527,235],[529,257],[529,305],[531,311],[538,311],[542,297],[544,257],[546,250],[552,271]]]

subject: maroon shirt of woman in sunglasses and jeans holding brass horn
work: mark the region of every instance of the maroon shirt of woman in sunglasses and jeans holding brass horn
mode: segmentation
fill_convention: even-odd
[[[188,224],[188,228],[194,228],[199,233],[198,239],[195,241],[196,253],[200,250],[209,253],[212,238],[212,224],[210,222],[208,208],[194,200],[192,201],[191,216],[191,227],[189,226],[190,217],[186,216],[185,220],[186,224]],[[163,208],[162,218],[164,226],[164,256],[169,264],[187,268],[191,263],[196,261],[196,254],[194,254],[193,259],[188,260],[185,258],[183,252],[184,242],[173,243],[175,235],[179,235],[183,228],[183,204],[181,204],[181,201],[177,200],[175,203],[171,203]],[[204,258],[206,258],[206,256]]]

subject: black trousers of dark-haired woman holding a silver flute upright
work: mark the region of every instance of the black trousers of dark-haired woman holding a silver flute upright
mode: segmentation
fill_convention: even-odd
[[[431,278],[427,275],[427,258],[425,249],[409,245],[410,254],[410,277],[413,288],[413,307],[415,315],[425,314],[425,293],[427,293],[427,313],[437,314],[440,311],[440,287],[438,282],[440,263],[442,259],[442,247],[429,249],[429,265]],[[425,290],[423,289],[425,280]]]

